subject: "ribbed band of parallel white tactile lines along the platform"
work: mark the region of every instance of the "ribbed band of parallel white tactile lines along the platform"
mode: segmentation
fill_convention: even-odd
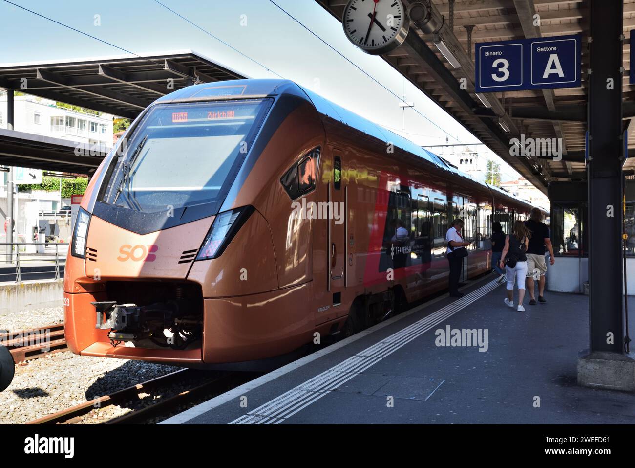
[[[300,383],[300,385],[294,389],[272,399],[262,406],[252,409],[246,415],[240,416],[230,422],[230,424],[279,424],[287,420],[295,415],[295,413],[298,413],[298,411],[315,403],[322,397],[328,395],[331,391],[340,387],[340,385],[343,385],[356,375],[374,366],[377,362],[410,343],[410,341],[415,340],[418,336],[436,327],[439,323],[445,322],[445,320],[449,319],[452,315],[485,296],[485,294],[497,286],[500,286],[497,280],[489,282],[476,291],[467,294],[464,298],[440,308],[436,312],[431,313],[431,315],[418,320],[403,330],[384,338],[371,347],[340,362],[337,366],[333,366],[306,382]]]

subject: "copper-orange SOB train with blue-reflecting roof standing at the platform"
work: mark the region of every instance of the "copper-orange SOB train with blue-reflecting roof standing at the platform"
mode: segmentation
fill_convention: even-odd
[[[491,268],[526,202],[286,80],[188,86],[133,122],[91,179],[64,274],[76,354],[257,367],[354,333]]]

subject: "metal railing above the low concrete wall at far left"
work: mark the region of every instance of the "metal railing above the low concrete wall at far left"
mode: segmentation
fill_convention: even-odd
[[[0,282],[15,277],[10,282],[20,283],[29,279],[55,279],[62,277],[66,263],[68,244],[55,242],[4,242],[4,263],[0,263]],[[27,245],[42,245],[43,249],[27,252]],[[64,247],[64,249],[62,249]]]

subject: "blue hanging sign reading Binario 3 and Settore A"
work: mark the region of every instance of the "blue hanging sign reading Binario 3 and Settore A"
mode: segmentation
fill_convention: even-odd
[[[631,31],[632,34],[632,31]],[[579,34],[476,44],[476,92],[581,85]]]

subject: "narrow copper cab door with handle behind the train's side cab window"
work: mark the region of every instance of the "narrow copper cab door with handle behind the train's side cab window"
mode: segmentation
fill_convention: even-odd
[[[331,181],[328,184],[328,233],[327,245],[330,258],[328,291],[333,293],[333,306],[340,304],[345,287],[346,230],[348,222],[347,189],[342,183],[342,157],[334,152]]]

